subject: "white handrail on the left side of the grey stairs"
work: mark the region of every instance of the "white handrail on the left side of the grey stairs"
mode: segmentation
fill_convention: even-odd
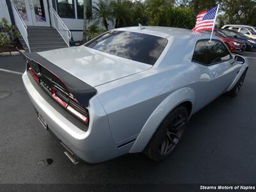
[[[14,6],[13,2],[12,2],[12,10],[13,10],[13,16],[15,19],[15,24],[17,26],[17,28],[20,31],[20,35],[22,36],[22,38],[24,39],[24,42],[26,43],[26,45],[28,46],[28,50],[30,51],[30,46],[29,46],[29,42],[28,42],[28,27],[26,26],[24,20],[22,19],[19,11],[17,10],[17,8]]]

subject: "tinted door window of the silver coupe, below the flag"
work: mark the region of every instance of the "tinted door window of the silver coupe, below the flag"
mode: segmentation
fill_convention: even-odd
[[[212,65],[221,61],[230,60],[231,56],[227,47],[217,40],[212,40],[211,43],[206,42],[207,47],[207,64]]]

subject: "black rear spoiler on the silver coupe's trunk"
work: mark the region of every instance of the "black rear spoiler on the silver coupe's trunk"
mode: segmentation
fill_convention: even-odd
[[[89,84],[81,81],[72,74],[63,70],[62,68],[54,65],[51,61],[48,61],[44,57],[40,56],[37,52],[21,52],[19,49],[17,51],[20,52],[20,56],[27,60],[30,63],[35,63],[36,65],[41,65],[46,68],[56,77],[58,77],[65,85],[68,90],[72,93],[74,98],[83,106],[83,108],[87,108],[89,105],[89,100],[96,94],[97,90],[90,86]],[[72,65],[72,64],[70,64]]]

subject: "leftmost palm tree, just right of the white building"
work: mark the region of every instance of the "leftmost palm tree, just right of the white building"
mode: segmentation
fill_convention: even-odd
[[[114,24],[111,1],[99,0],[99,2],[93,3],[93,17],[97,19],[97,22],[102,22],[102,24],[108,31],[108,20],[112,22],[112,24]]]

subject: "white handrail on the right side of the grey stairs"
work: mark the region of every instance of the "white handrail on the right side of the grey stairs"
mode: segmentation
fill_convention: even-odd
[[[52,14],[52,26],[60,33],[63,40],[69,47],[69,40],[72,36],[71,32],[69,31],[63,20],[60,18],[58,13],[54,10],[54,8],[51,7],[50,10]]]

